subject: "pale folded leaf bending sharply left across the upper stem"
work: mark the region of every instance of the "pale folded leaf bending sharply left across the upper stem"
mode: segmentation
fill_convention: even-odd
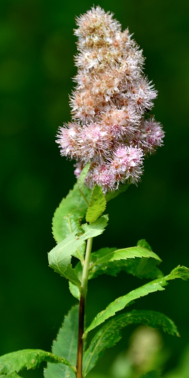
[[[49,266],[71,283],[80,287],[80,281],[70,264],[71,257],[75,255],[75,251],[84,244],[85,240],[100,235],[104,231],[107,221],[108,216],[103,215],[91,224],[83,224],[78,230],[80,232],[75,231],[68,235],[48,253]]]

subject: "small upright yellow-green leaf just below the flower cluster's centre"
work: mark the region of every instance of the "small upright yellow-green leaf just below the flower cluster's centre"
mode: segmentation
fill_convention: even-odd
[[[98,185],[95,185],[91,193],[89,208],[86,215],[87,222],[95,222],[95,220],[103,214],[105,206],[106,200],[103,191]]]

